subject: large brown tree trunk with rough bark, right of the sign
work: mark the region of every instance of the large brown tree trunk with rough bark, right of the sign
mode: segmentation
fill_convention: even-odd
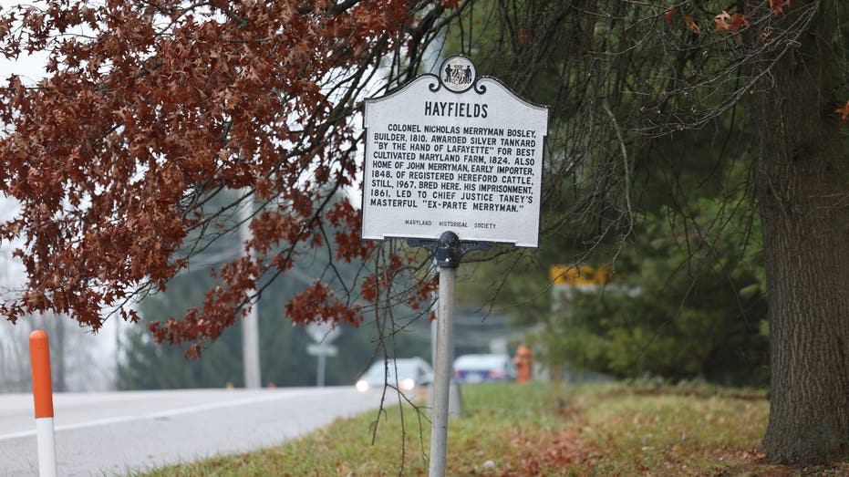
[[[794,2],[784,20],[809,5]],[[779,462],[827,461],[849,449],[849,157],[847,126],[834,113],[832,62],[842,53],[831,49],[834,13],[823,5],[751,103],[770,306],[762,449]]]

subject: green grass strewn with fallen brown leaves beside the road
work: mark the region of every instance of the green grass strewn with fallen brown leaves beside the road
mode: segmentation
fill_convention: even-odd
[[[462,394],[465,415],[449,422],[448,475],[849,474],[846,464],[766,464],[758,445],[769,404],[759,391],[511,383]],[[425,410],[395,406],[264,451],[137,475],[427,475],[429,444]]]

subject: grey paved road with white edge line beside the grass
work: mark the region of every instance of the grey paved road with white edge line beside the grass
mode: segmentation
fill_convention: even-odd
[[[57,394],[58,473],[122,475],[270,446],[376,409],[353,387]],[[0,394],[0,477],[37,474],[33,400]]]

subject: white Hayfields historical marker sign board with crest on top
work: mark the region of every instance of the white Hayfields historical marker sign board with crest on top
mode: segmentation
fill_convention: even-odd
[[[367,99],[363,238],[539,243],[548,109],[450,57]]]

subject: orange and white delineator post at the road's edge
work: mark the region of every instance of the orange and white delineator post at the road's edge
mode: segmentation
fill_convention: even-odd
[[[53,428],[53,384],[50,380],[50,347],[47,333],[36,329],[29,335],[29,359],[33,373],[36,407],[38,476],[56,477],[56,437]]]

